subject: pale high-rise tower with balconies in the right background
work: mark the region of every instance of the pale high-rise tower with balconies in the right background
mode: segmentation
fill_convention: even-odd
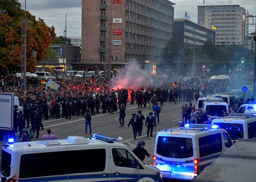
[[[215,44],[244,44],[248,35],[246,10],[240,5],[197,6],[197,23],[216,29]]]

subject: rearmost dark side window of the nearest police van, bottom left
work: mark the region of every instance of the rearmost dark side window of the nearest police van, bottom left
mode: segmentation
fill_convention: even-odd
[[[54,167],[51,167],[52,165]],[[20,178],[63,174],[67,174],[67,151],[29,153],[21,156]]]

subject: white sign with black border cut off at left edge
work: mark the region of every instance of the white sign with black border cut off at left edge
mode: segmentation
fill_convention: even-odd
[[[0,93],[0,129],[12,130],[14,127],[14,94]]]

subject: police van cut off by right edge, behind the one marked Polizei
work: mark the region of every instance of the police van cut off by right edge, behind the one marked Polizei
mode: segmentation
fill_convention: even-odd
[[[229,114],[226,117],[213,119],[211,124],[218,125],[227,130],[232,142],[237,139],[255,139],[256,138],[256,116],[253,114]]]

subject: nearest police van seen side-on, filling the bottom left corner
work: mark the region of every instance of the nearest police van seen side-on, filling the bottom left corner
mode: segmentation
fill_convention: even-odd
[[[140,161],[127,146],[93,136],[3,145],[1,176],[19,173],[20,182],[162,182],[160,170]]]

